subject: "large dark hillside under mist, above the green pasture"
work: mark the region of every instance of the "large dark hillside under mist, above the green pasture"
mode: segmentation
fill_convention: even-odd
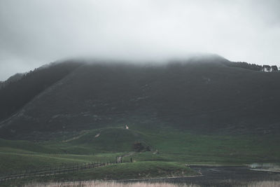
[[[200,133],[279,132],[280,74],[223,62],[228,63],[85,64],[3,122],[0,137],[48,139],[125,124]]]

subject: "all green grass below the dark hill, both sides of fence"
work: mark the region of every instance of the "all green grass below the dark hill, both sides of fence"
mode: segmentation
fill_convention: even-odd
[[[97,134],[99,134],[98,137]],[[162,128],[125,130],[110,127],[85,132],[79,137],[57,141],[12,141],[0,139],[0,174],[48,169],[62,165],[116,160],[134,151],[132,144],[151,146],[123,158],[125,163],[69,174],[45,176],[38,181],[136,179],[195,174],[186,164],[242,165],[252,162],[280,162],[280,137],[268,135],[218,136],[193,134]],[[130,162],[132,158],[133,162]],[[27,182],[30,179],[21,179]]]

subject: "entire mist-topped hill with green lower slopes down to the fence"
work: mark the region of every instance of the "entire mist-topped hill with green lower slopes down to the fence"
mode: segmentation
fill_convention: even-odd
[[[172,163],[167,170],[280,162],[279,71],[234,63],[218,56],[162,64],[76,60],[31,71],[0,89],[1,175],[114,161],[137,151],[136,142],[141,152],[123,158],[133,158],[133,173],[139,162],[146,174],[157,170],[150,162]],[[100,171],[115,179],[115,169],[123,165]],[[84,173],[93,179],[96,171]]]

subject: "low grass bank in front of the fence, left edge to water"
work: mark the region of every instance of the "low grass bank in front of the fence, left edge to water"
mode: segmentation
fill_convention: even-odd
[[[155,177],[194,176],[197,172],[176,162],[127,162],[105,167],[69,172],[53,176],[16,179],[2,183],[4,186],[22,186],[29,181],[39,183],[48,181],[90,181],[93,179],[151,179]]]

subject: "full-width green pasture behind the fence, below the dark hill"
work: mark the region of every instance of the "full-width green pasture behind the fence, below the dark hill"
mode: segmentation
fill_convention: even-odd
[[[98,138],[94,138],[97,132],[100,135]],[[137,162],[165,161],[189,164],[280,162],[280,148],[278,146],[280,137],[276,136],[217,136],[177,132],[164,128],[157,132],[105,128],[92,130],[67,142],[35,144],[29,141],[1,140],[0,172],[38,169],[47,166],[55,167],[97,160],[113,161],[116,155],[132,151],[134,141],[141,141],[144,144],[148,142],[148,145],[153,148],[150,152],[133,155],[134,161]],[[6,147],[3,146],[4,144]],[[17,146],[15,147],[15,145]],[[75,147],[83,147],[79,151],[84,152],[71,153]],[[102,148],[103,151],[101,151]],[[155,150],[158,150],[159,153],[153,154]],[[65,154],[65,152],[69,153]],[[129,162],[130,158],[125,158],[125,161]]]

